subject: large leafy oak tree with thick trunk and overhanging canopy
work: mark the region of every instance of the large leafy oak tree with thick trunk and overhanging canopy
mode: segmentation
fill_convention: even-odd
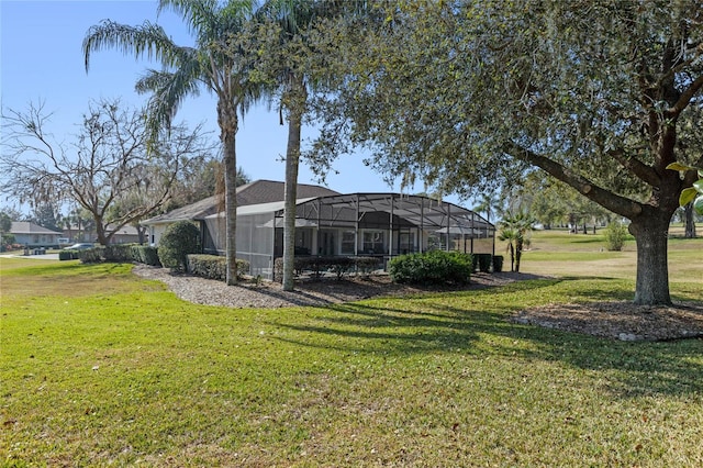
[[[465,193],[543,169],[631,220],[634,301],[670,303],[669,222],[696,175],[667,166],[703,163],[700,1],[379,5],[321,33],[345,79],[311,158],[366,144],[390,176]]]

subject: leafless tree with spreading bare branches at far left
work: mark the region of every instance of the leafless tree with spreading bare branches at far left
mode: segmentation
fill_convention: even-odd
[[[91,213],[103,245],[164,204],[180,171],[212,151],[200,126],[175,126],[147,153],[143,112],[119,100],[91,102],[72,138],[56,138],[48,131],[51,116],[43,103],[3,114],[0,170],[7,180],[0,192],[34,207],[76,202]]]

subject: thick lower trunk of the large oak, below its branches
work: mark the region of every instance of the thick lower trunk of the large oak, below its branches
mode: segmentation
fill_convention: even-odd
[[[668,237],[669,219],[646,216],[633,221],[629,232],[637,243],[635,304],[670,305]]]

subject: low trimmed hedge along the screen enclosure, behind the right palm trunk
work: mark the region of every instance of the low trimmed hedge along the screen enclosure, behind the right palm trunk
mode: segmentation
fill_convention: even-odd
[[[380,264],[381,259],[378,257],[301,256],[295,257],[293,270],[295,276],[308,272],[313,278],[320,278],[325,272],[333,272],[337,279],[342,279],[352,271],[369,275],[378,269]],[[283,279],[282,257],[274,261],[274,279],[279,282]]]

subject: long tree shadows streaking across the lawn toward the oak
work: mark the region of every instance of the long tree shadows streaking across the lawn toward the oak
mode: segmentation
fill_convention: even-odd
[[[335,304],[325,308],[330,313],[306,323],[287,323],[282,316],[271,325],[292,332],[277,339],[343,352],[387,355],[459,352],[475,356],[490,353],[525,360],[526,365],[533,360],[560,363],[603,372],[598,379],[600,385],[616,398],[685,397],[703,392],[702,339],[618,342],[509,322],[507,317],[521,304],[512,304],[500,296],[539,293],[540,288],[556,285],[540,282],[382,303]],[[631,293],[598,287],[582,287],[577,292],[574,297],[584,300],[623,299]]]

